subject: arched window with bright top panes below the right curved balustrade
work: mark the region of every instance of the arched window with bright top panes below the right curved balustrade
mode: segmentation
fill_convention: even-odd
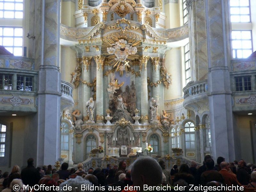
[[[195,125],[192,122],[187,122],[185,124],[185,148],[186,149],[196,148]]]

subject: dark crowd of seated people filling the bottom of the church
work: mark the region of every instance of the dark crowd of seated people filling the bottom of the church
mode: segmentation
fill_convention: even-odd
[[[23,186],[23,184],[59,186],[62,191],[63,186],[76,188],[83,184],[88,186],[83,191],[120,192],[127,191],[124,190],[125,186],[142,187],[145,184],[187,187],[182,191],[188,190],[189,185],[234,185],[256,188],[255,165],[246,164],[244,160],[228,163],[224,157],[218,157],[215,164],[210,155],[205,156],[201,166],[191,161],[189,165],[174,164],[171,170],[166,169],[163,160],[157,162],[149,156],[138,157],[129,167],[125,161],[120,161],[118,165],[107,164],[107,167],[102,169],[91,167],[88,170],[84,170],[82,163],[77,164],[77,169],[68,169],[68,163],[63,163],[58,171],[51,165],[35,168],[33,158],[29,158],[27,163],[27,167],[22,170],[18,165],[14,165],[10,174],[9,172],[2,174],[0,171],[0,192],[12,192],[14,185]],[[93,188],[89,188],[90,186]],[[173,188],[171,190],[177,191]],[[75,191],[82,191],[82,189]],[[19,192],[23,192],[23,189],[20,188]],[[128,190],[128,192],[136,192],[136,190]]]

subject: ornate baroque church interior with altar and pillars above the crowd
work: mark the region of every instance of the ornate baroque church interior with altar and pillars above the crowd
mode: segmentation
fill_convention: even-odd
[[[29,157],[36,166],[140,155],[168,168],[205,155],[255,164],[255,8],[0,0],[0,169]]]

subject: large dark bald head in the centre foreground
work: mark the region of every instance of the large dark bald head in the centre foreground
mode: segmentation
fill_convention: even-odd
[[[163,183],[162,168],[150,156],[139,156],[131,165],[131,176],[137,191],[144,191],[144,185],[160,186]]]

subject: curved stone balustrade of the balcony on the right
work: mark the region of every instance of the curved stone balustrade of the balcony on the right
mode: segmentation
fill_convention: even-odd
[[[184,99],[192,95],[204,93],[207,91],[208,91],[207,80],[199,81],[199,82],[190,82],[186,87],[183,88]]]

